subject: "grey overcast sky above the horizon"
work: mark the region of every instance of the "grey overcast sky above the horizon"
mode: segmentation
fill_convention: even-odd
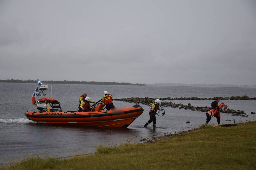
[[[255,0],[0,0],[0,79],[256,84]]]

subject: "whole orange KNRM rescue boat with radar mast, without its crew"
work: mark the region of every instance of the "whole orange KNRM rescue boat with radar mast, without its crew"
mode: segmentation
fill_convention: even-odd
[[[44,88],[40,88],[38,93],[43,93],[43,90],[48,89],[47,85],[41,85],[41,87]],[[87,112],[62,111],[56,99],[44,97],[36,101],[35,96],[32,97],[32,103],[39,111],[27,111],[25,116],[29,120],[61,125],[127,127],[144,110],[139,104],[122,109],[104,110],[104,103],[96,103],[91,111]]]

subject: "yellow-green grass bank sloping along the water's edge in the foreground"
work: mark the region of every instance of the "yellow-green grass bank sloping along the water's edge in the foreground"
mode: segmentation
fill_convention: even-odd
[[[34,157],[0,169],[256,169],[255,127],[202,126],[151,144],[99,146],[90,156]]]

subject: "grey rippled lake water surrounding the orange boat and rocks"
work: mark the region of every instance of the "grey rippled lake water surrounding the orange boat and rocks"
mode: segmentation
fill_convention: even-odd
[[[51,85],[46,90],[46,97],[51,97]],[[31,83],[0,83],[0,164],[13,162],[28,155],[69,157],[72,155],[88,154],[95,151],[97,145],[115,145],[131,142],[140,142],[140,139],[195,129],[205,123],[204,112],[190,111],[177,108],[166,108],[166,115],[157,116],[157,128],[152,124],[144,128],[149,119],[148,106],[142,105],[143,114],[128,128],[106,127],[79,127],[37,124],[27,120],[24,113],[35,110],[31,104],[31,96],[36,85]],[[52,97],[58,99],[64,111],[76,110],[78,98],[84,92],[91,96],[93,101],[101,99],[103,91],[108,91],[114,98],[123,97],[230,97],[247,95],[256,97],[255,88],[210,88],[210,87],[163,87],[163,86],[110,86],[110,85],[78,85],[52,84]],[[172,101],[173,103],[194,106],[208,106],[212,101]],[[248,118],[221,114],[221,123],[246,122],[256,120],[250,112],[256,112],[256,101],[220,101],[231,109],[243,109]],[[133,103],[114,101],[116,107],[130,107]],[[185,123],[190,121],[189,124]],[[216,124],[216,119],[210,123]]]

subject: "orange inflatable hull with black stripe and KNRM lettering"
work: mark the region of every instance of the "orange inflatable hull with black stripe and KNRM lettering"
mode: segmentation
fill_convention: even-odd
[[[45,124],[61,124],[76,126],[108,126],[127,127],[143,113],[138,105],[115,110],[94,112],[36,112],[27,111],[29,120]]]

